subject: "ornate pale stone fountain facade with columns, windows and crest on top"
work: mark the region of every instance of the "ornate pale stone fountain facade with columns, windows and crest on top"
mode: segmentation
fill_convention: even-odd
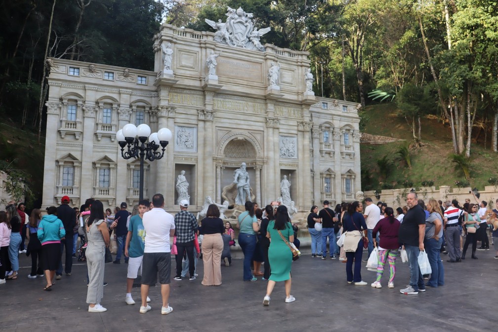
[[[163,24],[154,71],[49,59],[43,207],[64,195],[73,205],[89,197],[136,204],[139,161],[124,160],[116,141],[126,123],[173,132],[164,157],[144,172],[144,197],[163,193],[169,210],[178,210],[181,171],[199,211],[206,196],[222,203],[242,162],[260,205],[281,196],[283,175],[299,211],[353,200],[361,188],[358,104],[314,96],[308,53],[257,45],[251,31],[232,44],[228,34]]]

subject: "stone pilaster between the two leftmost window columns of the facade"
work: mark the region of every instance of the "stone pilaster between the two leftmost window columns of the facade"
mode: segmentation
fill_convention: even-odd
[[[93,141],[95,132],[95,106],[84,106],[83,151],[85,157],[81,161],[81,199],[93,197],[95,177],[93,177]],[[112,184],[110,184],[112,186]]]

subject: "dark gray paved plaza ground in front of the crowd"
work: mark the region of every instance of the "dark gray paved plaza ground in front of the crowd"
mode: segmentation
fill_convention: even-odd
[[[447,263],[445,286],[418,295],[402,295],[408,265],[397,261],[394,289],[370,287],[375,273],[362,268],[368,286],[346,283],[346,264],[338,259],[311,258],[308,250],[293,263],[294,303],[284,303],[283,283],[277,283],[270,306],[263,307],[266,282],[242,280],[242,259],[222,266],[219,287],[194,281],[171,280],[173,312],[161,315],[160,288],[150,291],[152,310],[140,314],[139,288],[135,305],[124,303],[126,267],[106,264],[102,305],[107,312],[89,313],[86,264],[76,262],[71,277],[63,276],[52,292],[44,292],[44,278],[28,279],[30,259],[21,255],[19,278],[0,285],[2,331],[497,331],[497,270],[494,250],[478,251],[478,260]],[[308,254],[305,254],[308,252]],[[470,258],[470,252],[468,254]],[[364,255],[365,257],[365,255]],[[172,266],[175,266],[174,261]],[[365,266],[366,263],[363,263]],[[172,276],[174,273],[172,274]]]

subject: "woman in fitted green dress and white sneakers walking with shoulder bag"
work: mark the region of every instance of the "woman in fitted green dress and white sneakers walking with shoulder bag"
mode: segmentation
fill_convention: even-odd
[[[290,295],[290,268],[292,266],[292,252],[289,246],[282,239],[289,243],[294,241],[294,231],[290,223],[287,208],[281,205],[277,209],[275,220],[268,222],[266,237],[270,239],[268,249],[268,260],[271,266],[270,279],[266,287],[266,295],[263,299],[263,306],[270,304],[270,295],[277,281],[283,281],[285,285],[285,303],[291,303],[296,299]]]

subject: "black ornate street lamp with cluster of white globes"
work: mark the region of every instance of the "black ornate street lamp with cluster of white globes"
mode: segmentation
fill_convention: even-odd
[[[116,133],[116,139],[121,146],[121,156],[124,159],[140,158],[139,200],[143,200],[143,160],[161,159],[171,138],[173,134],[168,128],[161,128],[157,132],[150,133],[150,127],[145,123],[138,127],[132,123],[125,124],[123,129]],[[157,143],[161,145],[161,151],[157,151],[159,148]],[[124,151],[125,146],[127,146],[127,151]]]

